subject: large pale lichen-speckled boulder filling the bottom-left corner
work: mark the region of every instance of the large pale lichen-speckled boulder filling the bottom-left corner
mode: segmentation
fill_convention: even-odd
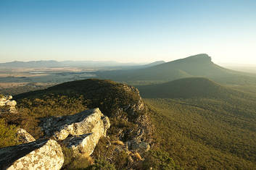
[[[62,148],[55,140],[41,139],[32,143],[0,149],[0,169],[61,169]]]

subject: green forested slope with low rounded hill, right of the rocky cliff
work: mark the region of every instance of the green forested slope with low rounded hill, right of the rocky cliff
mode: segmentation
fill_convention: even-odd
[[[255,93],[204,78],[140,88],[157,129],[155,140],[181,167],[256,167]]]

